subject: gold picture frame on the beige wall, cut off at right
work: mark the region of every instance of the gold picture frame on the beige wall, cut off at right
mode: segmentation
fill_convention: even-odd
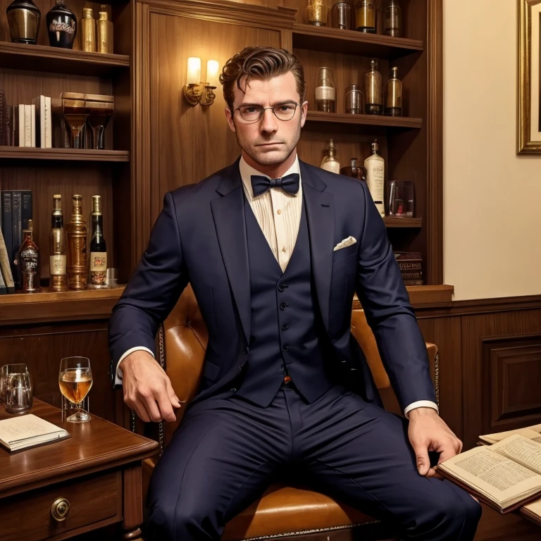
[[[541,154],[541,0],[518,1],[517,154]]]

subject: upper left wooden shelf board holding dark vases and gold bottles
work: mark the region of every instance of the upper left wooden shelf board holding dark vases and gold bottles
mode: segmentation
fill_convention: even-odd
[[[0,68],[109,77],[119,69],[130,68],[130,56],[0,42]]]

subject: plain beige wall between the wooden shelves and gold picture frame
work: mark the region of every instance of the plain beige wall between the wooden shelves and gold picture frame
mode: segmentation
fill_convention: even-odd
[[[516,0],[444,3],[444,282],[541,294],[541,156],[516,156]]]

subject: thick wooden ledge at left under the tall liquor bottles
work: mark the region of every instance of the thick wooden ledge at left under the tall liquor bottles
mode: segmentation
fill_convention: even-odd
[[[43,288],[40,293],[1,295],[0,324],[108,319],[123,291],[124,286],[66,292]]]

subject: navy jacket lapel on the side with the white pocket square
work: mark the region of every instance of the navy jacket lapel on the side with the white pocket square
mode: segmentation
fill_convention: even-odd
[[[306,205],[306,220],[310,237],[313,279],[325,328],[329,328],[330,280],[332,248],[335,237],[335,211],[332,194],[325,193],[327,185],[312,168],[299,160],[301,182]]]

